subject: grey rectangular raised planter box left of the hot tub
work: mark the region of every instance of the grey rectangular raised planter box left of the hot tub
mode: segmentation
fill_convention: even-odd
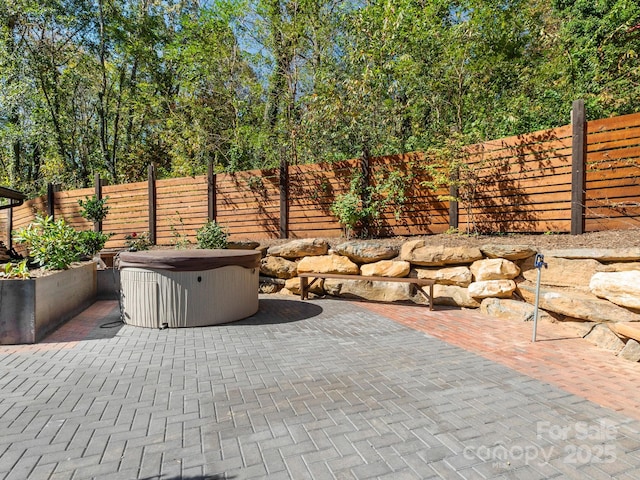
[[[96,264],[28,280],[0,280],[0,344],[37,343],[96,297]]]

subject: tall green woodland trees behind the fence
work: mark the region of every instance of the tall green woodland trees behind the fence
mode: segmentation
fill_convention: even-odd
[[[31,194],[638,111],[634,0],[4,0],[0,181]]]

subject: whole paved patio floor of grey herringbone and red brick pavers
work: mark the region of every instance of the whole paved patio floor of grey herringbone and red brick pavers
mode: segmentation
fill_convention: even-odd
[[[278,296],[222,326],[117,319],[0,347],[0,478],[638,478],[637,400],[585,398],[620,371],[608,398],[637,392],[638,366],[546,326],[531,346],[472,312]]]

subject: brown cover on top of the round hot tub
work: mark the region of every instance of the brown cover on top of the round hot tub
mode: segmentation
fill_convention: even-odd
[[[262,254],[257,250],[144,250],[121,252],[120,268],[137,267],[173,272],[200,272],[237,265],[260,267]]]

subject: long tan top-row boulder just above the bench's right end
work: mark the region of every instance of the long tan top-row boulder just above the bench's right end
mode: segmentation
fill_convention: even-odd
[[[427,245],[424,240],[411,240],[400,248],[401,260],[426,267],[472,263],[481,258],[482,252],[477,247]]]

